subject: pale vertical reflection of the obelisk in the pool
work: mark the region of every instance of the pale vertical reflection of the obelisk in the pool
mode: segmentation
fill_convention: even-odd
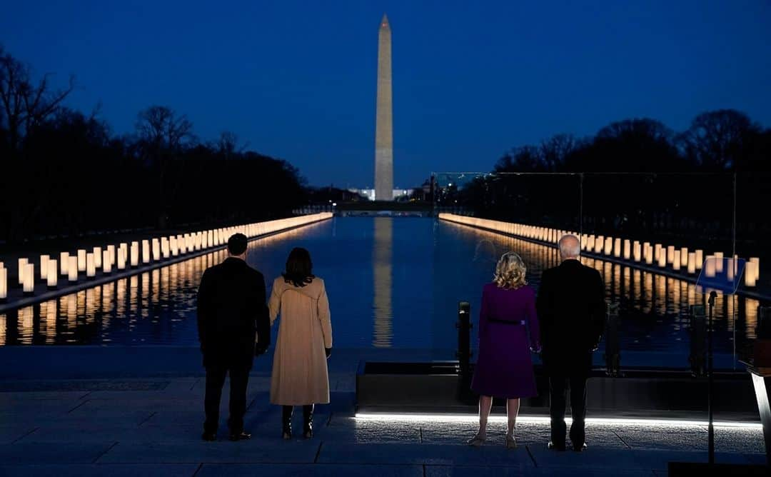
[[[373,309],[375,326],[372,345],[390,348],[393,338],[393,311],[391,307],[391,255],[393,247],[393,219],[375,217],[375,247],[372,250]]]

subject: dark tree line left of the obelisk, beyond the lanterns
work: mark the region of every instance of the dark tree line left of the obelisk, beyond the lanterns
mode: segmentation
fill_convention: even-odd
[[[0,46],[0,241],[270,220],[307,201],[295,167],[233,133],[201,140],[187,116],[153,105],[117,135],[63,105],[74,86],[33,78]]]

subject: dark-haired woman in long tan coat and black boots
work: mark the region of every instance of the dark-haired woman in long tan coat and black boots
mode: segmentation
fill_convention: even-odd
[[[313,436],[313,405],[329,402],[327,358],[332,352],[332,324],[324,280],[311,274],[311,254],[295,248],[286,271],[273,282],[268,301],[271,324],[281,314],[273,354],[271,402],[284,406],[281,423],[291,438],[294,406],[302,406],[303,435]]]

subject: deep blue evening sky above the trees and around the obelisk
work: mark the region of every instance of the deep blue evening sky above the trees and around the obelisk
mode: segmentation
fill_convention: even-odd
[[[0,42],[76,75],[116,133],[163,104],[314,185],[371,186],[379,20],[393,35],[397,186],[490,170],[511,146],[736,108],[771,126],[769,0],[11,2]]]

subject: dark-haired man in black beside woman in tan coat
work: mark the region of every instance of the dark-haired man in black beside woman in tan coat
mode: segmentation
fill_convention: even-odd
[[[271,321],[264,277],[247,265],[246,249],[243,233],[230,237],[227,259],[204,271],[198,287],[198,340],[206,368],[204,441],[217,438],[227,373],[231,376],[231,441],[251,437],[244,432],[247,382],[254,354],[263,354],[271,344]]]

